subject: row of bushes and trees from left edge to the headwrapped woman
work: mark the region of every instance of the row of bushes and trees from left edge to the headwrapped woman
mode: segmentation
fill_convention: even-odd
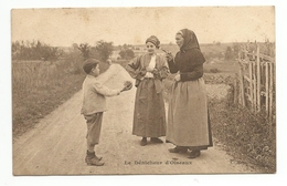
[[[56,61],[66,58],[73,52],[81,52],[83,60],[95,58],[106,62],[113,55],[113,51],[119,50],[119,59],[131,59],[135,56],[129,44],[114,46],[113,42],[97,41],[95,45],[89,43],[74,43],[71,50],[51,46],[41,41],[14,41],[12,42],[12,60],[42,60]]]

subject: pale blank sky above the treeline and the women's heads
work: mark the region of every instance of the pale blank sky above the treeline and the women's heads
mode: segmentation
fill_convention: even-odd
[[[12,41],[56,46],[99,40],[144,44],[151,34],[169,43],[183,28],[193,30],[200,43],[275,41],[274,7],[13,9],[11,17]]]

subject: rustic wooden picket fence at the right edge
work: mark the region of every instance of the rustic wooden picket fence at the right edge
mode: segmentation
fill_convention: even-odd
[[[268,118],[275,113],[275,56],[263,54],[261,45],[248,51],[246,46],[238,54],[240,72],[235,82],[234,102],[253,112],[266,112]]]

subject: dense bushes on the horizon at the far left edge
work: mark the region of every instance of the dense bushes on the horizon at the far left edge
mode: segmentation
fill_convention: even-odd
[[[56,61],[64,52],[41,41],[12,42],[12,60]]]

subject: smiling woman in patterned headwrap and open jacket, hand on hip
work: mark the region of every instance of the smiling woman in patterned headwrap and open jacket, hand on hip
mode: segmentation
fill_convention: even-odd
[[[147,53],[131,60],[127,65],[130,76],[136,79],[136,101],[132,134],[141,136],[140,145],[163,143],[159,137],[166,136],[166,111],[163,103],[162,80],[169,74],[167,60],[157,54],[160,41],[151,35],[146,40]]]

